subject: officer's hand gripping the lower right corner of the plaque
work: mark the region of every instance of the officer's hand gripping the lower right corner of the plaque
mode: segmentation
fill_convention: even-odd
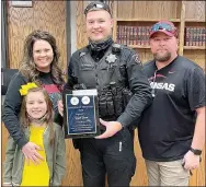
[[[105,121],[100,119],[100,122],[106,127],[106,131],[98,137],[96,139],[104,139],[114,136],[116,132],[118,132],[123,126],[118,121]]]

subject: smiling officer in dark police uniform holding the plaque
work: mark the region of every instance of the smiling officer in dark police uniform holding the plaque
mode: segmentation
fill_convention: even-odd
[[[66,89],[83,84],[98,89],[101,124],[99,137],[80,139],[84,186],[129,186],[135,173],[131,128],[151,103],[151,89],[141,72],[138,55],[114,44],[111,10],[103,2],[90,3],[85,11],[89,45],[77,50],[69,62]],[[59,103],[62,113],[62,103]]]

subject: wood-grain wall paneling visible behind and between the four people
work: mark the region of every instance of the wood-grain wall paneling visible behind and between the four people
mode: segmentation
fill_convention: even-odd
[[[57,44],[61,54],[61,67],[65,69],[67,65],[66,51],[66,1],[33,1],[33,8],[13,8],[8,5],[8,34],[9,34],[9,62],[10,68],[18,68],[22,57],[23,40],[33,30],[49,31],[57,39]],[[114,5],[114,1],[108,1]],[[83,10],[89,1],[76,1],[77,9],[77,48],[81,48],[88,44],[85,34],[85,22]],[[118,17],[142,17],[145,11],[147,17],[144,19],[161,19],[180,17],[180,2],[178,1],[118,1]],[[186,17],[202,17],[197,10],[203,10],[203,5],[191,5],[190,1],[186,9]],[[146,9],[139,9],[144,7]],[[178,9],[175,9],[175,7]],[[197,7],[197,8],[196,8]],[[125,8],[127,11],[125,11]],[[195,8],[195,9],[194,9]],[[137,11],[138,10],[138,11]],[[190,10],[190,11],[188,11]],[[194,11],[195,10],[195,11]],[[191,12],[194,12],[191,14]],[[202,17],[203,19],[203,17]],[[149,49],[137,49],[142,61],[152,58]],[[194,55],[195,52],[195,55]],[[201,66],[205,66],[205,55],[202,50],[187,50],[186,57],[196,60]],[[2,126],[3,127],[3,126]],[[2,128],[2,161],[4,161],[4,150],[8,132]],[[67,143],[67,174],[62,182],[64,186],[82,186],[81,163],[79,151],[75,150],[71,140]],[[137,157],[136,174],[133,177],[131,186],[147,186],[147,174],[145,162],[141,157],[138,139],[135,139],[135,154]],[[191,186],[205,186],[205,152],[203,153],[203,162],[201,168],[193,172]]]

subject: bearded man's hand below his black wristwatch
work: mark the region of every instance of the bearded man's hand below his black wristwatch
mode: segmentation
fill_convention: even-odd
[[[184,168],[185,170],[195,170],[199,166],[199,161],[201,161],[201,156],[199,155],[195,155],[192,151],[188,151],[185,155],[184,155]]]

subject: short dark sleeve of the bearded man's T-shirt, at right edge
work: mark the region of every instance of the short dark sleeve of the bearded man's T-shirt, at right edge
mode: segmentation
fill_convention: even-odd
[[[195,68],[187,79],[188,104],[192,110],[205,106],[205,73]]]

